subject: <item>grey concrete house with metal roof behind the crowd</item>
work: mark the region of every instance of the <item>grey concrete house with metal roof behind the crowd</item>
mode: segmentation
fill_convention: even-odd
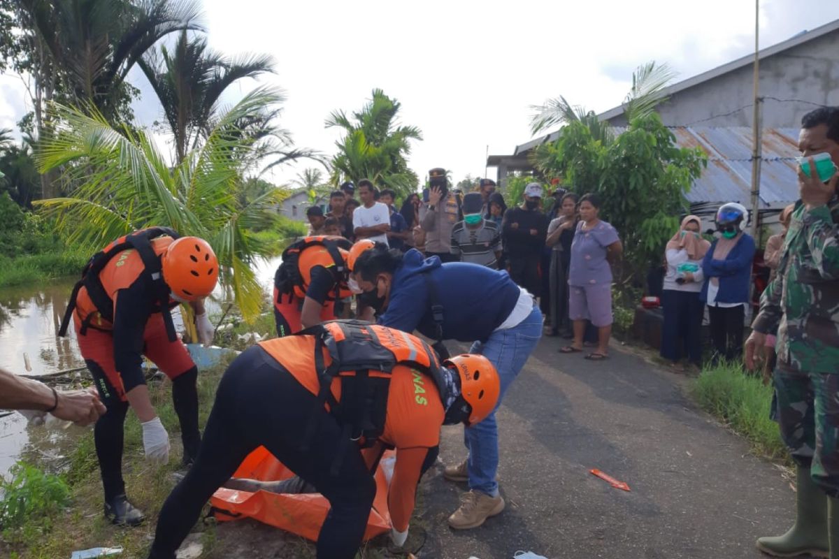
[[[759,58],[760,211],[769,225],[786,204],[798,199],[795,157],[801,116],[819,106],[839,105],[839,20],[763,49]],[[749,54],[670,85],[664,92],[669,99],[656,109],[679,147],[698,147],[708,155],[708,168],[687,194],[696,214],[712,214],[726,202],[751,206],[753,61]],[[616,133],[627,126],[623,106],[599,117]],[[557,137],[558,131],[551,132],[516,146],[510,155],[489,156],[487,166],[497,168],[497,182],[503,187],[510,173],[532,173],[531,151]]]

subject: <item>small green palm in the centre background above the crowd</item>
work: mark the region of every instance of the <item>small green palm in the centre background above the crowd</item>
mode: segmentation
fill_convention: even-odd
[[[419,179],[408,167],[407,157],[410,141],[422,140],[422,132],[417,127],[398,125],[400,108],[399,101],[377,89],[352,117],[344,111],[331,113],[326,127],[340,127],[346,132],[336,142],[338,153],[331,161],[333,182],[366,178],[400,194],[416,189]]]

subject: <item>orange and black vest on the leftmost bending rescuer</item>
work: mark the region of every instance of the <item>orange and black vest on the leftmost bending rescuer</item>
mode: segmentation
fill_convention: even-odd
[[[88,328],[106,331],[112,329],[113,299],[110,290],[102,283],[101,274],[115,256],[124,256],[126,251],[135,250],[143,266],[142,269],[138,269],[137,277],[148,277],[154,292],[153,312],[163,314],[166,334],[169,340],[174,342],[177,339],[175,324],[172,323],[172,315],[168,311],[175,305],[171,303],[169,286],[164,282],[161,272],[160,254],[178,237],[179,235],[168,227],[149,227],[122,236],[91,256],[81,271],[81,280],[76,282],[70,294],[70,302],[67,304],[64,318],[61,319],[59,335],[67,334],[74,310],[81,319],[82,335]],[[117,261],[116,266],[120,266],[120,261]]]

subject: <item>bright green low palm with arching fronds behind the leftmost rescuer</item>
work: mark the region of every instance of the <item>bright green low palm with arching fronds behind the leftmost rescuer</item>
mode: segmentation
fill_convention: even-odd
[[[249,122],[271,111],[281,96],[260,88],[221,114],[200,148],[175,167],[146,132],[117,130],[105,116],[54,106],[60,124],[39,146],[41,171],[65,169],[81,186],[72,197],[37,205],[56,219],[60,234],[91,251],[129,231],[167,225],[182,235],[201,236],[219,258],[221,282],[246,319],[255,318],[263,299],[254,277],[254,261],[272,251],[253,230],[274,225],[272,211],[284,199],[282,189],[242,204],[248,173],[258,170],[259,140],[242,133]]]

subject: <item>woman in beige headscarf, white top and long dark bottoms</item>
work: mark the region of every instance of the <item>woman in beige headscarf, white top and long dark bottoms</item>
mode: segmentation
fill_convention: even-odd
[[[667,243],[664,257],[667,273],[661,304],[664,328],[661,332],[661,356],[680,366],[683,356],[694,365],[701,365],[701,327],[705,305],[699,298],[702,290],[702,258],[711,246],[700,234],[701,222],[688,215]]]

